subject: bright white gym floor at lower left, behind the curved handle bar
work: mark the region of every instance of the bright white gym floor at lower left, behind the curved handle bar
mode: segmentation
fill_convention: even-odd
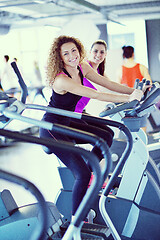
[[[61,188],[57,158],[47,155],[39,145],[16,143],[0,148],[1,169],[19,175],[34,183],[47,201],[54,202]],[[9,189],[18,206],[36,202],[23,187],[0,179],[0,192]]]

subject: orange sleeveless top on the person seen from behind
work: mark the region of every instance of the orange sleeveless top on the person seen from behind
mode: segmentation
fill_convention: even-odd
[[[140,64],[137,63],[132,68],[127,68],[125,66],[122,66],[122,80],[121,83],[125,84],[129,87],[134,87],[134,83],[136,79],[139,79],[142,81],[143,76],[140,72]]]

